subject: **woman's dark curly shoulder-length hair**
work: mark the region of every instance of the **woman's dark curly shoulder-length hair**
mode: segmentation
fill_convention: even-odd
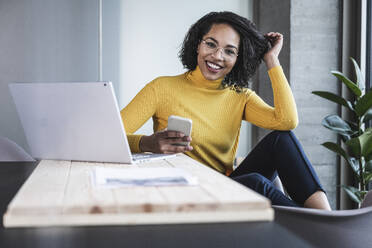
[[[256,25],[232,12],[211,12],[191,26],[179,52],[179,58],[188,70],[195,70],[197,49],[203,36],[209,32],[213,24],[228,24],[240,35],[239,56],[231,72],[223,80],[225,87],[236,89],[248,88],[248,81],[256,72],[264,54],[269,49],[269,41]]]

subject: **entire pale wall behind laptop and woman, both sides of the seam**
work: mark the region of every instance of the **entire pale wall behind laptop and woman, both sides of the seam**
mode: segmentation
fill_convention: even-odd
[[[222,10],[250,17],[252,0],[103,0],[103,79],[120,107],[155,77],[183,73],[177,54],[188,28]],[[98,0],[0,0],[0,136],[28,150],[8,83],[97,80],[97,27]],[[250,125],[239,147],[240,156],[250,148]]]

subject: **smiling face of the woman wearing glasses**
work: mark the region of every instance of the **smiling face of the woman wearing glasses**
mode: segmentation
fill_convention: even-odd
[[[239,42],[239,34],[230,25],[212,25],[198,46],[198,66],[206,79],[224,78],[232,70],[237,60],[232,52],[237,54]]]

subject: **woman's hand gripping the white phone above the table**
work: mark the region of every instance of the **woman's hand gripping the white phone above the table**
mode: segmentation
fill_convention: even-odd
[[[190,141],[191,137],[185,136],[182,132],[162,130],[150,136],[142,136],[139,146],[142,152],[179,153],[193,149]],[[188,142],[188,145],[177,144],[181,142]]]

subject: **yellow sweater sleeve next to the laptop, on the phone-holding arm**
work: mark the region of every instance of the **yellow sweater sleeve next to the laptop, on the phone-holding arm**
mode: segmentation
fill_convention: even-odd
[[[149,83],[120,111],[132,152],[141,152],[139,142],[143,135],[133,133],[155,114],[156,105],[154,85]]]

